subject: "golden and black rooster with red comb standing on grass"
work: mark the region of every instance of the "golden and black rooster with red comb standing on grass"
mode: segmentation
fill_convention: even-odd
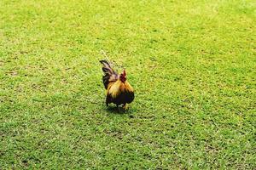
[[[100,60],[102,63],[102,77],[104,87],[107,89],[106,105],[113,103],[122,105],[124,109],[127,108],[126,104],[130,104],[134,99],[134,91],[131,85],[126,80],[125,70],[123,73],[118,74],[113,70],[112,66],[106,60]]]

